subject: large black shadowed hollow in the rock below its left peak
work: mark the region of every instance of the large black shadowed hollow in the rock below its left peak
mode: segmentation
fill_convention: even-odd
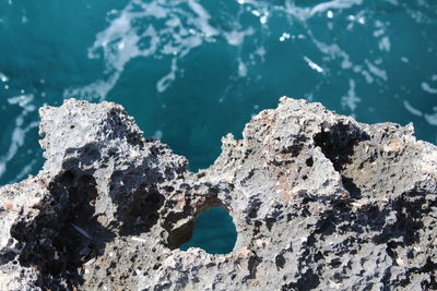
[[[97,191],[90,173],[66,170],[48,187],[51,196],[38,206],[40,215],[14,226],[11,234],[23,247],[20,264],[39,270],[38,287],[72,289],[83,282],[81,266],[102,255],[114,234],[94,217]]]

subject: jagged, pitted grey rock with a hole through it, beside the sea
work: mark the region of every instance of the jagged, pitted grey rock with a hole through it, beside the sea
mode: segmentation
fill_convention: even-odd
[[[281,98],[198,173],[121,106],[40,109],[46,162],[0,189],[0,290],[437,289],[437,148]],[[180,251],[218,206],[229,254]]]

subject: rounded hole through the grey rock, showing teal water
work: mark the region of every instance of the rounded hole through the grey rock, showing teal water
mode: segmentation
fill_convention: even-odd
[[[196,219],[192,238],[179,246],[200,247],[209,254],[228,254],[237,241],[237,230],[231,215],[223,208],[212,207]]]

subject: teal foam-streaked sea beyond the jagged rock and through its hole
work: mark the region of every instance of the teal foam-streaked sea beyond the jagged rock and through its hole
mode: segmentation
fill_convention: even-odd
[[[0,0],[0,184],[40,169],[43,105],[119,102],[197,171],[283,95],[436,143],[437,1]]]

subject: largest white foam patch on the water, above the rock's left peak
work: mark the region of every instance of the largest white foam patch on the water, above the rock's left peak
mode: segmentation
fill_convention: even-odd
[[[189,0],[189,9],[182,9],[184,1],[143,2],[132,0],[122,9],[109,26],[96,35],[93,46],[88,49],[88,58],[103,58],[106,64],[106,76],[87,86],[69,88],[64,97],[82,97],[104,99],[116,85],[126,64],[138,57],[162,58],[175,56],[170,72],[156,84],[158,93],[165,92],[177,77],[177,59],[187,56],[193,48],[204,41],[212,41],[215,36],[223,35],[232,46],[243,44],[253,29],[247,27],[240,31],[223,32],[210,24],[210,13],[194,0]],[[151,20],[165,19],[166,26],[158,31]],[[137,22],[149,20],[147,27]]]

